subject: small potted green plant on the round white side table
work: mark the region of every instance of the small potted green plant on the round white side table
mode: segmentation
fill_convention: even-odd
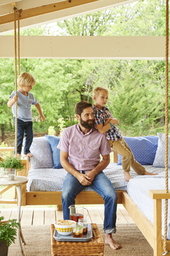
[[[0,161],[1,174],[6,180],[13,180],[13,169],[18,171],[24,168],[24,164],[20,160],[20,157],[6,157],[3,161]]]

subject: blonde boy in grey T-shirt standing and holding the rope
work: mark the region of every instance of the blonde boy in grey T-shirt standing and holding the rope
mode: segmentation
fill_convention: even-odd
[[[35,77],[31,74],[24,72],[22,73],[18,80],[19,90],[17,90],[17,95],[13,91],[8,100],[7,106],[12,107],[13,120],[15,124],[15,102],[17,102],[17,156],[20,156],[22,150],[22,141],[24,138],[24,132],[26,136],[26,143],[24,147],[24,154],[29,157],[32,157],[29,148],[33,141],[33,118],[31,112],[31,104],[35,105],[38,113],[40,115],[40,120],[45,120],[45,116],[42,113],[40,104],[33,96],[33,93],[30,93],[33,86],[36,84]]]

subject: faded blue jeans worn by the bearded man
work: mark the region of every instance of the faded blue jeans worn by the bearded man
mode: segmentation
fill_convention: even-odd
[[[107,178],[104,172],[98,173],[91,185],[88,187],[95,190],[104,199],[104,230],[105,233],[116,232],[116,210],[117,194],[111,180]],[[70,220],[70,210],[68,207],[75,204],[75,197],[82,191],[84,186],[81,185],[73,175],[67,173],[63,182],[62,204],[64,220]],[[87,202],[88,204],[88,202]]]

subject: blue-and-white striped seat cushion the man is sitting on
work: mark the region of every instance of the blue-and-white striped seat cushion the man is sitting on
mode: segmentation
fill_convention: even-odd
[[[137,175],[134,170],[130,171],[132,178],[141,179],[143,177],[161,178],[165,177],[164,168],[153,168],[152,165],[145,165],[147,172],[159,173],[159,175]],[[121,165],[116,163],[110,163],[105,170],[105,175],[111,180],[116,190],[126,190],[128,182],[123,175],[123,169]],[[62,191],[63,182],[66,177],[65,169],[52,169],[52,168],[40,168],[30,169],[28,173],[27,191]],[[169,174],[170,176],[170,174]],[[84,191],[93,191],[90,187],[85,187]]]

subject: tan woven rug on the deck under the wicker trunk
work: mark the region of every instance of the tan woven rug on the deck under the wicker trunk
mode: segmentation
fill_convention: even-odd
[[[120,250],[112,250],[109,245],[104,246],[105,256],[153,256],[153,249],[141,234],[135,224],[118,224],[117,232],[113,239],[121,244]],[[104,239],[103,225],[98,225],[100,234]],[[50,226],[22,227],[22,234],[26,245],[22,246],[25,256],[51,256],[50,251]],[[8,250],[8,256],[20,256],[17,239]]]

